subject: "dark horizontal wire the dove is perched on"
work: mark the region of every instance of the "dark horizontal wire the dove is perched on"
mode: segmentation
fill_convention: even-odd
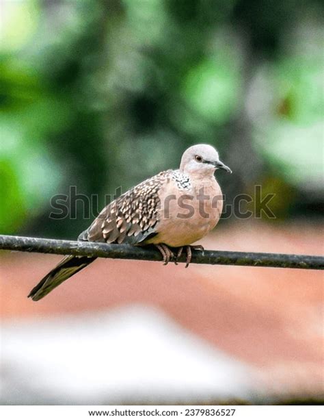
[[[10,251],[83,255],[111,259],[161,261],[161,253],[154,247],[128,244],[105,244],[70,240],[53,240],[21,236],[1,236],[0,249]],[[185,255],[178,262],[185,262]],[[210,265],[264,266],[272,268],[324,269],[324,257],[286,255],[282,253],[252,253],[232,251],[193,251],[191,263]]]

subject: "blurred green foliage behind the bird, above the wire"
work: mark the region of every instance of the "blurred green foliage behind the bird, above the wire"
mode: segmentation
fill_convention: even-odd
[[[264,183],[278,217],[319,214],[320,1],[1,7],[1,233],[73,238],[89,220],[50,220],[51,196],[75,185],[103,205],[198,142],[232,167],[228,201]]]

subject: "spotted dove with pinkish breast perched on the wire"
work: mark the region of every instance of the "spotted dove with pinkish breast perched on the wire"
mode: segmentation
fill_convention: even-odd
[[[163,264],[187,253],[192,244],[206,236],[218,223],[223,209],[223,195],[215,170],[232,170],[219,160],[210,144],[195,144],[181,157],[177,170],[164,170],[129,189],[109,203],[83,231],[78,240],[125,243],[134,246],[154,245]],[[91,264],[96,257],[68,255],[31,290],[28,297],[38,301],[66,279]]]

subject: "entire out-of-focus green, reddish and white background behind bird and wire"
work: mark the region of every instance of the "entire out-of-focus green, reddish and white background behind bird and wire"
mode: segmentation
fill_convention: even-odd
[[[77,238],[113,194],[213,144],[237,194],[207,249],[323,253],[323,2],[2,0],[0,232]],[[67,194],[76,216],[49,218]],[[321,272],[1,252],[2,404],[320,403]],[[130,275],[131,272],[131,275]]]

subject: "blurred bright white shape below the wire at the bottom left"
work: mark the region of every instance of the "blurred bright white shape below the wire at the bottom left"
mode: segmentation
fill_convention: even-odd
[[[251,368],[140,305],[3,322],[0,381],[6,404],[196,403],[256,390]]]

